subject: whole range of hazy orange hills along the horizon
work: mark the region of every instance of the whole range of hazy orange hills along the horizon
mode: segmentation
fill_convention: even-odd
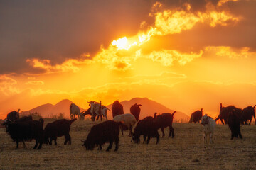
[[[141,113],[139,116],[140,119],[145,118],[148,115],[153,116],[155,112],[156,113],[167,113],[167,112],[173,113],[174,112],[174,110],[166,108],[166,106],[161,105],[156,101],[152,101],[149,98],[132,98],[129,101],[119,101],[119,102],[122,104],[122,106],[124,106],[124,113],[130,113],[129,108],[134,103],[142,104]],[[38,106],[36,108],[33,108],[29,111],[23,111],[21,114],[27,115],[29,113],[38,113],[43,118],[52,118],[54,115],[58,117],[60,113],[62,113],[64,118],[70,118],[69,108],[71,103],[73,102],[68,99],[64,99],[55,105],[47,103],[47,104]],[[111,110],[111,107],[112,107],[112,104],[107,106],[107,108],[110,108],[110,110]],[[85,109],[80,108],[80,111],[85,111]],[[112,119],[111,111],[107,112],[107,117]],[[187,121],[188,115],[180,111],[177,111],[174,115],[174,120]]]

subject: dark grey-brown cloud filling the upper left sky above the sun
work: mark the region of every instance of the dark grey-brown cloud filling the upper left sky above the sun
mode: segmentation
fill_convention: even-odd
[[[26,59],[61,63],[134,35],[154,1],[1,1],[0,74],[26,72]]]

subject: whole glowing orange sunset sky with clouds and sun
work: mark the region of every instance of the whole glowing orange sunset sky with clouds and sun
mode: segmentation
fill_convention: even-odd
[[[256,104],[256,1],[0,1],[0,118],[64,98]]]

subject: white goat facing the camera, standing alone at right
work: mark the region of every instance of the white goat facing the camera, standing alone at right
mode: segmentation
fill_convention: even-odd
[[[203,142],[207,144],[208,135],[210,138],[210,143],[213,143],[213,133],[215,131],[216,122],[213,118],[210,118],[207,114],[203,115],[201,119],[201,124],[203,125]]]

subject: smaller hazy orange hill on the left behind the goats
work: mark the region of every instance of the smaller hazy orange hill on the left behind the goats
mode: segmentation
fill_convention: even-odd
[[[55,105],[52,104],[43,104],[36,108],[33,108],[29,111],[23,111],[21,115],[28,115],[30,113],[38,113],[43,118],[53,118],[53,116],[59,116],[60,113],[63,114],[64,118],[70,118],[70,104],[73,103],[68,99],[64,99],[58,102]],[[85,109],[80,108],[80,111],[84,111]]]

